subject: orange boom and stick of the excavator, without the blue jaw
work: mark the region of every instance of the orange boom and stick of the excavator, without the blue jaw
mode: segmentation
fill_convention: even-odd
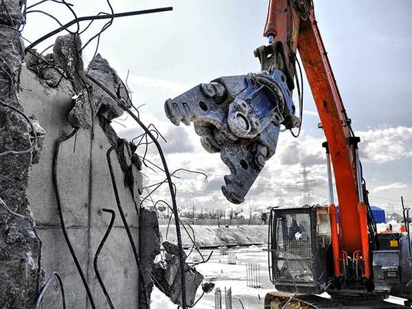
[[[280,54],[271,65],[284,71],[286,76],[294,76],[296,51],[299,50],[310,89],[317,106],[323,131],[328,142],[339,201],[339,250],[347,253],[362,251],[365,264],[364,276],[371,275],[369,265],[369,234],[366,206],[363,203],[361,169],[359,168],[357,142],[350,128],[332,67],[323,45],[317,21],[314,18],[313,2],[310,0],[271,0],[264,36],[270,45],[260,47],[255,56],[260,58],[262,69],[268,69],[263,52],[272,46],[276,52],[282,45],[284,56]],[[274,46],[274,47],[273,47]],[[262,56],[263,54],[263,56]],[[266,55],[267,56],[267,55]],[[286,70],[286,71],[285,71]],[[291,82],[293,86],[293,81]],[[333,213],[333,207],[332,207]],[[333,217],[333,216],[332,216]],[[335,223],[337,224],[337,223]],[[339,258],[335,257],[335,261]],[[335,262],[335,275],[340,275],[340,266]]]

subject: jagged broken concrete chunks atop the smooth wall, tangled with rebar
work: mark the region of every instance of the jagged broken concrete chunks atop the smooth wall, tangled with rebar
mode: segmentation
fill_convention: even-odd
[[[25,56],[25,62],[27,67],[50,87],[57,87],[62,79],[71,82],[73,108],[68,119],[73,128],[90,129],[98,112],[100,117],[108,120],[124,113],[124,109],[119,107],[110,95],[87,78],[82,60],[80,36],[76,34],[58,36],[53,51],[54,54],[42,56],[35,49],[31,49]],[[126,85],[100,54],[91,60],[87,72],[105,84],[117,98],[122,99],[126,108],[132,106]]]

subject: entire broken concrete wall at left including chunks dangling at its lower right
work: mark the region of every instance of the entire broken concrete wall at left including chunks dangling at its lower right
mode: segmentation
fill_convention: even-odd
[[[76,133],[76,141],[73,146],[63,147],[62,156],[65,160],[71,157],[78,159],[71,163],[75,164],[73,167],[62,170],[65,174],[60,177],[64,180],[60,189],[65,191],[63,202],[67,205],[63,205],[63,211],[69,217],[67,229],[73,238],[92,294],[102,295],[95,275],[91,273],[93,270],[90,260],[108,225],[108,221],[102,217],[101,209],[106,205],[104,203],[115,207],[105,162],[107,148],[114,146],[117,157],[115,164],[120,172],[117,176],[122,179],[117,181],[117,186],[126,216],[130,214],[130,229],[133,229],[133,235],[137,236],[135,242],[139,247],[146,292],[150,295],[156,284],[175,304],[180,304],[178,249],[172,242],[163,242],[165,260],[155,264],[155,258],[161,252],[161,233],[156,212],[139,205],[139,196],[143,192],[141,161],[135,154],[136,146],[117,137],[111,126],[111,121],[122,115],[123,109],[110,95],[91,82],[87,74],[106,85],[116,98],[130,108],[132,103],[126,85],[100,54],[84,69],[82,42],[76,34],[58,36],[52,53],[41,55],[35,49],[30,49],[24,54],[24,45],[16,31],[25,22],[21,14],[22,3],[23,1],[18,0],[4,0],[3,6],[0,6],[0,103],[8,104],[23,113],[24,110],[35,112],[36,115],[28,114],[29,125],[20,113],[0,104],[0,308],[34,308],[37,286],[40,289],[45,276],[53,271],[59,271],[63,282],[66,281],[65,286],[69,289],[65,291],[68,308],[82,308],[83,304],[84,307],[88,306],[84,287],[66,244],[62,242],[51,181],[54,143],[73,128],[80,129]],[[67,102],[67,98],[69,104],[65,103],[60,108],[58,104]],[[56,102],[49,102],[50,100]],[[9,150],[29,149],[34,143],[34,137],[36,147],[31,152],[24,155],[1,155]],[[80,146],[76,146],[76,143]],[[70,152],[73,154],[70,155]],[[95,158],[104,158],[104,162],[93,161]],[[41,168],[34,168],[33,164]],[[67,168],[66,165],[63,166]],[[78,178],[79,174],[82,179]],[[87,175],[89,179],[85,180]],[[102,175],[106,175],[104,179]],[[30,181],[30,176],[36,179],[36,183]],[[69,187],[71,179],[79,182],[76,183],[77,186]],[[104,192],[99,194],[95,190]],[[109,202],[94,198],[96,194],[111,196],[111,200]],[[34,201],[32,207],[29,201]],[[38,225],[34,222],[38,222]],[[115,231],[112,234],[115,236],[110,237],[115,240],[110,242],[109,237],[106,246],[110,247],[110,250],[102,251],[100,258],[101,273],[103,277],[106,273],[104,281],[107,282],[112,300],[123,308],[136,305],[146,308],[148,304],[143,297],[141,280],[138,279],[140,274],[135,273],[137,270],[136,265],[131,262],[133,258],[130,257],[133,255],[130,253],[130,244],[124,233],[124,226],[118,219],[113,230]],[[38,235],[44,240],[43,249]],[[124,251],[124,248],[127,248],[128,252]],[[119,253],[124,256],[118,257]],[[126,260],[119,264],[122,258]],[[113,264],[113,260],[117,264]],[[40,262],[44,269],[38,267]],[[185,269],[187,305],[192,306],[203,276],[187,264]],[[120,279],[117,279],[120,280],[117,286],[109,286],[109,279],[114,276],[111,274],[121,275]],[[130,279],[129,274],[134,277]],[[137,293],[130,290],[130,286],[134,286],[133,282],[138,282]],[[57,305],[60,302],[60,291],[56,287],[49,292],[52,299],[46,301],[46,307],[60,306]],[[213,284],[203,282],[203,290],[209,291],[212,288]],[[128,295],[138,295],[137,302],[122,295],[126,289]],[[107,305],[104,297],[95,297],[95,303],[98,308]]]

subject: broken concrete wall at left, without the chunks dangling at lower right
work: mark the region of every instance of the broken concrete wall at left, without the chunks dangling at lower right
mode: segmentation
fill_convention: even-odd
[[[133,157],[134,150],[127,152],[124,146],[117,147],[119,138],[110,122],[123,111],[86,81],[80,38],[60,36],[53,54],[43,57],[30,50],[22,65],[24,46],[16,30],[22,21],[19,1],[3,2],[0,9],[3,25],[0,27],[0,100],[3,102],[0,105],[0,308],[34,308],[40,255],[44,273],[39,273],[39,288],[44,275],[58,272],[63,278],[67,307],[91,307],[62,236],[52,182],[56,141],[69,135],[73,128],[78,128],[76,137],[61,144],[56,162],[62,214],[94,306],[108,308],[93,268],[95,252],[111,219],[102,209],[113,209],[118,214],[106,151],[115,146],[111,161],[119,201],[137,248],[139,162]],[[89,72],[130,106],[122,81],[100,55],[91,63]],[[36,126],[37,141],[44,138],[41,155],[36,151],[3,155],[6,151],[30,148],[36,134],[21,113],[12,108],[37,116],[38,122],[32,119],[32,126]],[[130,148],[128,143],[122,145]],[[133,257],[124,222],[117,216],[98,260],[100,275],[116,308],[139,307],[139,273]],[[60,302],[60,287],[54,284],[47,290],[43,304],[46,308],[57,308]]]

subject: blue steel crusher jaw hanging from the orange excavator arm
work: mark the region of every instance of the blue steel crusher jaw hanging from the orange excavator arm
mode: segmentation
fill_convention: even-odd
[[[165,102],[165,113],[179,126],[194,123],[207,152],[220,152],[230,174],[222,192],[240,204],[275,153],[280,125],[299,126],[284,73],[270,69],[221,77]]]

